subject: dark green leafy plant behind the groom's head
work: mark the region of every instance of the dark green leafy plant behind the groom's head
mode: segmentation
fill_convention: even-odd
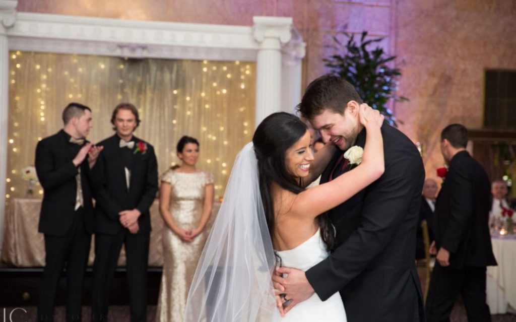
[[[408,101],[405,96],[397,96],[397,79],[401,76],[398,68],[389,66],[396,56],[387,55],[380,46],[369,50],[368,47],[382,41],[383,38],[366,39],[367,31],[362,32],[360,43],[354,35],[343,33],[348,41],[344,44],[333,36],[334,44],[330,46],[334,55],[324,59],[325,66],[337,76],[346,79],[369,106],[379,110],[385,119],[394,126],[403,124],[387,107],[389,100]]]

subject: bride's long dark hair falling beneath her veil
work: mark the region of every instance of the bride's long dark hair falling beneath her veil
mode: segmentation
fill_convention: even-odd
[[[269,233],[275,225],[274,208],[270,196],[270,185],[276,182],[280,187],[295,194],[303,191],[301,182],[288,172],[285,164],[286,151],[291,148],[306,132],[305,125],[298,117],[285,112],[278,112],[266,117],[256,128],[253,136],[254,153],[258,160],[260,176],[260,195],[262,196],[265,218]],[[314,200],[314,202],[318,202]],[[321,229],[321,236],[329,249],[335,246],[335,233],[324,213],[316,218]]]

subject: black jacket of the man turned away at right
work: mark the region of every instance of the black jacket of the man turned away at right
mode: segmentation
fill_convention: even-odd
[[[467,151],[449,163],[436,202],[436,246],[450,252],[451,269],[496,265],[489,234],[491,184]]]

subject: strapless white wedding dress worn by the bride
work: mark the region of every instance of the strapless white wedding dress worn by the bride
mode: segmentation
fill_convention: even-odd
[[[322,241],[320,230],[305,240],[301,245],[294,249],[277,251],[281,257],[282,266],[298,268],[307,271],[312,266],[328,257],[329,252]],[[285,317],[281,317],[276,310],[272,316],[272,321],[281,322],[346,322],[346,312],[340,294],[335,293],[326,301],[321,301],[317,294],[313,294],[309,299],[298,303],[290,310]]]

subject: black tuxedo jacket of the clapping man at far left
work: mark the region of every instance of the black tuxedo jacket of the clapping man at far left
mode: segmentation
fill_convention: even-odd
[[[43,201],[39,218],[39,232],[62,236],[70,231],[75,211],[78,167],[72,160],[75,155],[67,141],[65,131],[46,137],[36,146],[36,172],[43,187]],[[88,181],[88,160],[80,164],[80,182],[84,200],[84,227],[94,230],[93,205]]]

